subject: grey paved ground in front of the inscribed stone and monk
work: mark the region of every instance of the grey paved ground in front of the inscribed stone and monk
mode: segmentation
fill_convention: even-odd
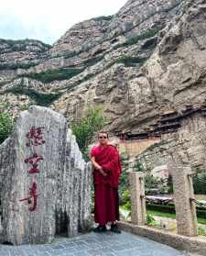
[[[89,233],[48,245],[0,245],[0,256],[186,256],[179,250],[126,232]]]

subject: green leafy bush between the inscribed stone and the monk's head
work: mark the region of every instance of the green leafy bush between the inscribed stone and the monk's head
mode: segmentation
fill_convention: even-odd
[[[104,124],[102,106],[95,108],[89,106],[86,117],[82,117],[76,123],[71,122],[72,132],[76,136],[76,141],[86,160],[88,160],[88,146],[92,143],[94,134],[103,128]]]

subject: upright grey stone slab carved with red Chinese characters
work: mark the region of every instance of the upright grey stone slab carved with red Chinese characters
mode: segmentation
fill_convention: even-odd
[[[34,134],[36,138],[42,136],[45,143],[28,135],[32,127],[42,128],[43,134],[37,130]],[[34,153],[43,157],[37,165]],[[27,161],[29,157],[34,158]],[[29,173],[32,168],[33,174]],[[88,228],[91,166],[82,159],[75,137],[60,114],[40,106],[21,112],[14,133],[0,146],[0,173],[3,240],[42,243],[61,232],[73,236]],[[31,204],[19,201],[29,196],[34,182],[37,190]],[[34,195],[38,195],[37,207],[30,211]]]

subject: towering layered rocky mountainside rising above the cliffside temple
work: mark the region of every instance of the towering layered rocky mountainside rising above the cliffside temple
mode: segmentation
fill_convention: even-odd
[[[13,113],[35,102],[66,117],[103,104],[113,132],[142,131],[168,109],[198,106],[205,99],[205,5],[131,0],[112,17],[73,26],[51,47],[33,43],[21,58],[1,42],[1,101],[12,102]]]

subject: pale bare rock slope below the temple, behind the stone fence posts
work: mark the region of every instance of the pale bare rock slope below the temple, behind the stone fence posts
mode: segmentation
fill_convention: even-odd
[[[163,135],[160,142],[140,153],[137,160],[143,163],[146,170],[171,161],[179,165],[190,165],[193,171],[204,170],[205,127],[206,118],[201,114],[186,117],[177,132]]]

